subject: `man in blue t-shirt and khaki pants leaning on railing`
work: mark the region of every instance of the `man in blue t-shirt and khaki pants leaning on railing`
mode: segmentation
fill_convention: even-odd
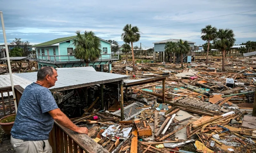
[[[51,153],[48,138],[54,120],[77,133],[88,134],[87,128],[77,127],[58,108],[48,89],[55,85],[57,77],[55,69],[43,67],[37,72],[36,83],[25,88],[11,130],[11,143],[17,153]]]

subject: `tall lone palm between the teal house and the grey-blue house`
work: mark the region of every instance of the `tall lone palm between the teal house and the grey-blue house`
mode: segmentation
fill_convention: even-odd
[[[134,62],[134,53],[133,53],[133,42],[137,42],[140,40],[140,31],[137,26],[132,26],[131,24],[127,24],[123,28],[123,32],[121,35],[122,40],[125,43],[131,43],[132,46],[132,64],[133,69],[135,69],[135,62]]]

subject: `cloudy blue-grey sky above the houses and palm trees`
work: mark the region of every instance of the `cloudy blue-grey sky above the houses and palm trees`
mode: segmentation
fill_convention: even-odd
[[[170,38],[204,44],[200,30],[209,24],[218,29],[231,28],[236,44],[256,41],[255,0],[0,0],[0,10],[7,42],[21,38],[34,45],[86,30],[122,45],[121,34],[126,24],[139,27],[141,38],[133,44],[141,43],[142,48]]]

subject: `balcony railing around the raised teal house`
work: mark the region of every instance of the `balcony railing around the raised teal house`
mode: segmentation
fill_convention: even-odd
[[[77,59],[75,55],[28,55],[28,60],[36,62],[47,62],[47,63],[72,63],[82,62],[83,60]],[[119,60],[118,54],[102,54],[97,61],[114,61]]]

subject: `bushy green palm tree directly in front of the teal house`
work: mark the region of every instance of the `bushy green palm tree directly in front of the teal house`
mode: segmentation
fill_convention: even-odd
[[[83,59],[86,66],[89,66],[90,61],[97,61],[101,56],[100,39],[95,36],[92,31],[85,31],[81,34],[76,31],[76,38],[73,40],[74,56],[78,59]]]

